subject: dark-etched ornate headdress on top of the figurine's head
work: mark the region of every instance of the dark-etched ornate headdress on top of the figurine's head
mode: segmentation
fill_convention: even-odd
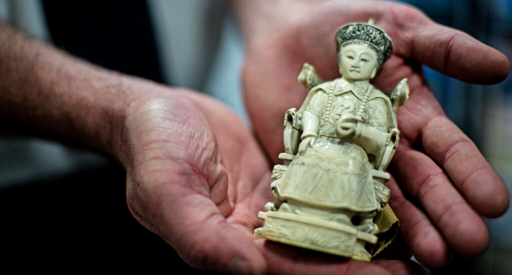
[[[339,28],[334,38],[336,41],[336,51],[350,44],[365,43],[377,54],[377,64],[380,67],[383,62],[388,60],[393,52],[393,45],[388,34],[370,24],[350,23]]]

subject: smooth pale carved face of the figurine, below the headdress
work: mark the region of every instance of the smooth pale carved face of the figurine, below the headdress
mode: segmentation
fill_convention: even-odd
[[[370,80],[377,73],[377,54],[365,45],[350,44],[340,50],[338,67],[345,78]]]

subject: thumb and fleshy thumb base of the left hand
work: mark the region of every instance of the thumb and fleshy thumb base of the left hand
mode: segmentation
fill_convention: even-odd
[[[197,268],[263,273],[251,232],[228,224],[219,209],[226,205],[216,205],[229,201],[228,175],[208,124],[187,101],[171,99],[148,100],[131,117],[136,149],[126,196],[132,213]]]

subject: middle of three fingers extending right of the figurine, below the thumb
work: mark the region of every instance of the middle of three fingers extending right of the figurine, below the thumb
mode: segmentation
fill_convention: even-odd
[[[480,255],[489,242],[483,220],[432,159],[403,144],[395,153],[394,175],[421,204],[447,243],[463,256]]]

